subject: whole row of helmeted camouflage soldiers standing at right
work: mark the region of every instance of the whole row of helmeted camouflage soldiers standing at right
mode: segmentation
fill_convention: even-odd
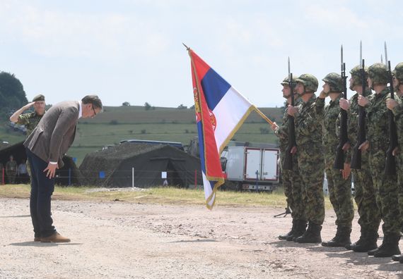
[[[321,230],[325,220],[325,202],[322,190],[323,174],[327,175],[329,198],[336,213],[337,232],[332,240],[322,242],[325,247],[346,247],[354,252],[368,252],[375,257],[392,256],[403,263],[399,250],[403,215],[403,151],[394,150],[397,175],[386,175],[385,159],[389,147],[389,122],[387,113],[393,112],[397,126],[398,142],[403,142],[403,63],[393,71],[393,87],[399,99],[390,99],[387,87],[389,73],[383,63],[375,63],[361,70],[350,71],[349,88],[356,92],[349,100],[343,98],[344,80],[337,73],[329,73],[322,80],[322,92],[315,96],[317,78],[303,74],[293,82],[291,92],[288,77],[283,85],[283,96],[288,102],[281,126],[271,128],[279,137],[281,166],[288,147],[290,116],[295,121],[296,147],[292,170],[282,170],[284,190],[291,208],[293,225],[290,232],[280,235],[280,240],[299,243],[322,242]],[[363,78],[362,75],[365,75]],[[363,86],[365,82],[365,86]],[[365,88],[363,90],[363,88]],[[373,89],[373,92],[371,91]],[[291,94],[297,101],[291,105]],[[325,98],[329,104],[325,105]],[[403,97],[402,97],[403,98]],[[367,140],[361,150],[361,169],[350,168],[353,147],[358,141],[359,107],[366,111]],[[344,169],[333,168],[339,144],[340,109],[347,112],[348,142],[344,144]],[[354,205],[351,195],[351,172],[354,177],[354,199],[358,206],[360,238],[351,243],[351,223]],[[378,247],[378,228],[383,221],[383,240]],[[307,228],[308,225],[308,228]]]

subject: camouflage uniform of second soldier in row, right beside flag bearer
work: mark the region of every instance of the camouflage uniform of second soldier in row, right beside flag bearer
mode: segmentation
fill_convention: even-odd
[[[298,168],[305,187],[306,216],[310,223],[322,225],[325,220],[322,116],[317,113],[320,108],[315,101],[314,94],[307,102],[299,105],[299,113],[296,115],[296,143]]]

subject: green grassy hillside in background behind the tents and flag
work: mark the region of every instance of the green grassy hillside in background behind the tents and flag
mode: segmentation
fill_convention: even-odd
[[[283,109],[260,110],[271,120],[281,122]],[[77,158],[79,166],[87,153],[118,144],[121,140],[163,140],[187,145],[194,137],[197,137],[194,109],[156,107],[147,111],[144,106],[105,106],[104,112],[96,118],[78,121],[76,139],[69,155]],[[24,139],[25,135],[11,130],[7,123],[1,123],[0,141],[14,144]],[[255,112],[247,118],[234,139],[276,142],[269,124]]]

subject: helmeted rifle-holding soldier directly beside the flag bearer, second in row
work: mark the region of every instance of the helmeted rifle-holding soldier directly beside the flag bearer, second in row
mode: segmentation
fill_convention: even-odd
[[[308,218],[308,229],[293,241],[299,243],[320,243],[322,223],[325,220],[325,199],[323,197],[324,159],[322,153],[323,107],[315,104],[317,78],[303,74],[296,78],[296,93],[302,104],[299,108],[288,105],[288,114],[296,121],[296,144],[293,152],[297,153],[298,169],[303,181],[305,192],[305,212]]]

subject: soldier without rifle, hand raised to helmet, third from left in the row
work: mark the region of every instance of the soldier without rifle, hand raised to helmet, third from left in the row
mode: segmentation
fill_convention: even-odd
[[[344,163],[344,170],[335,169],[334,159],[339,144],[337,136],[337,116],[339,116],[339,101],[343,97],[343,80],[338,73],[329,73],[323,78],[325,85],[317,105],[325,104],[325,97],[330,97],[330,103],[325,106],[323,115],[323,147],[325,154],[325,172],[329,188],[330,202],[336,213],[337,233],[332,240],[322,242],[326,247],[345,247],[350,244],[351,223],[354,218],[353,199],[351,197],[351,175],[349,163]]]

